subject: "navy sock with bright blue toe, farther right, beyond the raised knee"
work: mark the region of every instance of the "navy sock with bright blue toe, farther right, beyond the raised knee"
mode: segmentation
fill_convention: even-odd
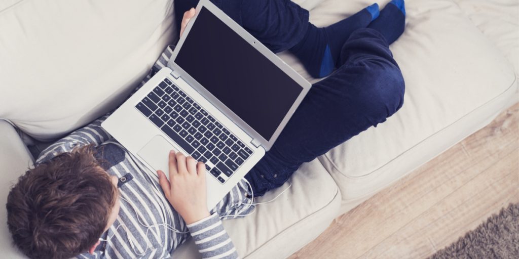
[[[404,0],[392,0],[380,11],[380,15],[368,28],[373,28],[381,33],[388,45],[392,44],[404,32],[405,6]]]

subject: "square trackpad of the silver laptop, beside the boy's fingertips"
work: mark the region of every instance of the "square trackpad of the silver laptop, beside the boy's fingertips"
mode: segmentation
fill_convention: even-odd
[[[169,151],[176,149],[162,136],[156,135],[144,145],[137,155],[155,171],[162,170],[169,180]]]

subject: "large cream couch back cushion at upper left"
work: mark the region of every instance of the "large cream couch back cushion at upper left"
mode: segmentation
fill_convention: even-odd
[[[177,38],[173,0],[0,3],[0,118],[51,140],[115,108]]]

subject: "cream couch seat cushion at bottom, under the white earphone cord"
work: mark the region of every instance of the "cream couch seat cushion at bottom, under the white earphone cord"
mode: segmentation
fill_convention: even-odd
[[[292,186],[274,202],[257,205],[242,219],[225,220],[224,226],[242,258],[285,258],[319,236],[337,216],[340,193],[316,159],[299,168]],[[289,186],[254,200],[267,202]],[[173,258],[200,258],[193,240],[182,244]]]

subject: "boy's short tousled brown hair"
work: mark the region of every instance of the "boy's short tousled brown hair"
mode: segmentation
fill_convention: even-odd
[[[94,154],[92,145],[59,154],[26,171],[11,188],[7,225],[25,255],[70,258],[103,234],[116,192]]]

